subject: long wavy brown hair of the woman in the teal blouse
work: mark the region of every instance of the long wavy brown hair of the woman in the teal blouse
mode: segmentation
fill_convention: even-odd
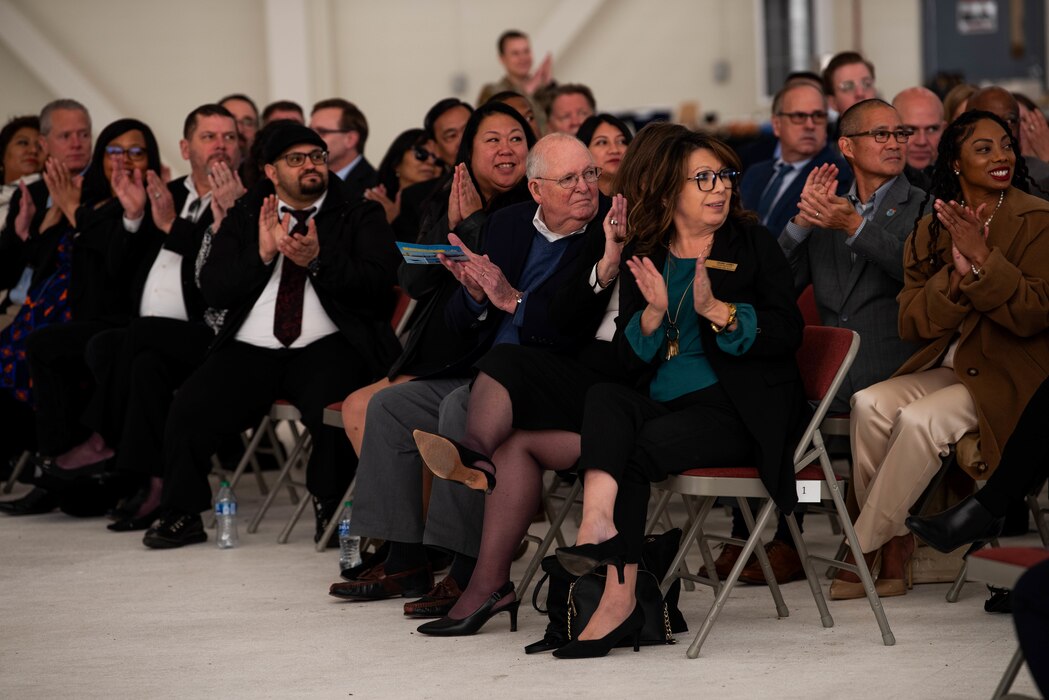
[[[613,189],[629,203],[626,240],[637,241],[638,255],[651,255],[657,248],[669,245],[673,233],[672,201],[681,191],[688,156],[700,148],[711,151],[725,167],[741,170],[740,156],[728,144],[680,124],[648,124],[626,149]],[[738,186],[730,192],[726,221],[756,220],[753,213],[743,208]]]

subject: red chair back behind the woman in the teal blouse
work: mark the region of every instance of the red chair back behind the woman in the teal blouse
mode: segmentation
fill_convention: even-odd
[[[813,447],[813,438],[819,424],[834,401],[834,395],[844,381],[849,367],[859,352],[859,334],[849,328],[830,325],[807,325],[801,347],[797,351],[797,368],[801,373],[806,398],[816,404],[816,411],[809,421],[797,449],[794,452],[795,470],[808,466]],[[817,451],[822,450],[822,437],[817,441]]]

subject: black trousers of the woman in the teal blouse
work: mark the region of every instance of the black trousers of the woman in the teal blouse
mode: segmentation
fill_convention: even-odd
[[[619,384],[597,384],[586,394],[579,468],[616,479],[616,529],[626,560],[639,561],[651,483],[689,469],[749,464],[752,443],[720,384],[667,403]]]

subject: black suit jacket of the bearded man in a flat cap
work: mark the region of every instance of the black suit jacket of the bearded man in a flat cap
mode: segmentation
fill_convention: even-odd
[[[258,246],[259,210],[273,192],[269,181],[256,185],[212,238],[200,289],[209,305],[229,310],[213,348],[234,340],[277,264],[276,258],[262,262]],[[320,253],[309,281],[328,317],[366,363],[366,374],[379,377],[401,347],[389,324],[400,254],[385,212],[374,203],[347,200],[342,182],[329,174],[327,197],[314,220]]]

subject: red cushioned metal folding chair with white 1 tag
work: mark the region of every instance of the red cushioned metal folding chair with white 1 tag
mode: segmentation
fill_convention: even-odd
[[[822,589],[813,568],[813,564],[817,561],[852,571],[860,577],[866,589],[866,597],[871,603],[871,609],[874,611],[878,627],[881,630],[882,641],[885,645],[892,645],[896,643],[896,639],[889,627],[889,620],[885,618],[878,594],[874,590],[874,581],[871,578],[871,572],[865,566],[863,554],[856,544],[856,532],[853,529],[852,521],[845,512],[844,499],[841,496],[841,490],[838,485],[839,478],[834,473],[831,460],[823,446],[823,438],[819,427],[827,416],[827,409],[834,398],[834,394],[837,391],[838,386],[844,379],[845,373],[856,357],[858,348],[859,336],[852,331],[830,326],[806,326],[805,339],[797,352],[797,363],[801,372],[806,396],[810,401],[818,403],[818,406],[794,450],[794,472],[798,481],[799,492],[804,488],[809,494],[812,494],[813,489],[815,489],[818,491],[818,497],[821,501],[831,501],[834,504],[838,518],[845,531],[845,536],[851,543],[853,556],[857,564],[845,564],[843,560],[811,554],[805,546],[805,539],[798,530],[797,522],[794,519],[793,514],[787,517],[787,524],[805,567],[806,578],[809,581],[809,588],[812,591],[816,608],[819,610],[823,627],[833,627],[834,619],[831,617],[827,601],[823,598]],[[779,587],[772,575],[762,540],[763,532],[771,521],[775,510],[775,504],[765,490],[756,468],[692,469],[669,476],[654,486],[663,489],[664,493],[656,507],[655,515],[650,522],[656,522],[672,494],[680,493],[692,497],[692,503],[689,505],[690,526],[682,539],[681,548],[678,550],[673,563],[670,565],[670,573],[663,579],[661,587],[663,592],[665,593],[678,578],[712,586],[716,592],[710,611],[700,625],[695,639],[688,648],[689,658],[699,656],[704,640],[710,634],[710,630],[718,620],[722,608],[728,600],[732,587],[740,577],[740,572],[743,571],[751,554],[755,554],[762,565],[765,578],[769,581],[769,588],[775,601],[778,616],[786,617],[788,615],[787,606],[784,603]],[[747,525],[750,528],[750,537],[746,540],[704,533],[704,521],[719,497],[733,497],[740,503],[744,517],[747,519]],[[746,499],[761,499],[765,502],[757,513],[756,519],[747,507]],[[693,544],[698,544],[707,572],[710,572],[708,575],[716,576],[713,573],[713,556],[708,546],[709,540],[730,542],[743,547],[740,558],[736,560],[735,566],[732,567],[728,578],[723,582],[709,577],[700,577],[691,574],[685,567],[686,553]]]

